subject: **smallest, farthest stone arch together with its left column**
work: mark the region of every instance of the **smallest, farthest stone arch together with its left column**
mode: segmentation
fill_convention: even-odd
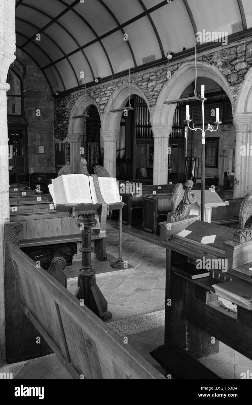
[[[70,164],[73,173],[79,172],[80,144],[83,140],[83,127],[85,120],[85,117],[74,118],[74,116],[84,114],[90,105],[95,105],[100,115],[100,110],[95,100],[91,97],[87,97],[85,102],[85,95],[78,98],[70,113],[67,141],[70,142]]]

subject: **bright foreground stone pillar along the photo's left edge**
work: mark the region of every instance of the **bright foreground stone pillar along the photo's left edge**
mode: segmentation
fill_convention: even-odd
[[[9,221],[8,145],[6,83],[8,68],[15,60],[15,0],[0,1],[0,364],[5,362],[4,313],[4,223]]]

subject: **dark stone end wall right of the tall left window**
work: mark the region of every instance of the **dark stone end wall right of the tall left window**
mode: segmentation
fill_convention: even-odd
[[[38,66],[23,52],[17,55],[25,63],[23,74],[23,118],[27,122],[28,171],[54,172],[54,100],[47,79]],[[36,110],[40,109],[40,117]],[[44,154],[38,154],[38,146]]]

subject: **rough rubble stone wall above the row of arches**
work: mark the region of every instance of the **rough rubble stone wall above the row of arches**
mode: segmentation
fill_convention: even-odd
[[[185,58],[179,62],[172,62],[171,60],[169,66],[164,64],[156,68],[151,68],[148,71],[133,73],[131,75],[131,81],[135,83],[148,98],[151,112],[153,112],[159,93],[167,80],[167,67],[173,74],[178,70],[181,64],[189,60],[194,60],[194,58]],[[252,65],[252,38],[246,38],[237,43],[199,53],[197,60],[208,62],[218,68],[230,83],[230,89],[235,104],[244,76]],[[97,102],[101,116],[116,87],[127,82],[128,77],[123,77],[107,83],[94,85],[87,89],[87,96],[90,96]],[[84,91],[79,91],[62,97],[59,96],[58,99],[55,99],[55,137],[57,139],[63,140],[66,138],[68,134],[70,111],[76,100],[78,100],[80,96],[83,96],[83,94]]]

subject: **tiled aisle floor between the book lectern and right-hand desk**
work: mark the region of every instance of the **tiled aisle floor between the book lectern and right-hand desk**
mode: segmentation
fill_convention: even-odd
[[[108,228],[106,251],[118,255],[118,231]],[[123,260],[135,269],[96,276],[97,285],[108,301],[112,320],[159,311],[165,301],[165,249],[123,233]],[[95,265],[102,266],[101,262]],[[95,265],[93,265],[95,267]],[[68,281],[76,291],[77,278]]]

